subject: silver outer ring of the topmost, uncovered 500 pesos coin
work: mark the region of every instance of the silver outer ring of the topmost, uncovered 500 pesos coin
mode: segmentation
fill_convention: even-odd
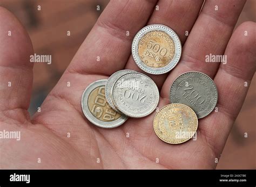
[[[151,68],[149,66],[147,66],[141,59],[139,56],[139,52],[138,52],[138,42],[139,40],[144,37],[145,34],[154,31],[156,28],[162,28],[163,32],[166,32],[173,40],[174,45],[175,45],[175,53],[173,56],[173,59],[171,60],[171,62],[169,62],[166,66],[161,67],[161,68]],[[146,30],[145,32],[142,32],[143,30]],[[174,39],[172,37],[172,34],[176,35],[177,40]],[[136,62],[137,66],[142,69],[143,71],[153,74],[153,75],[159,75],[159,74],[165,74],[167,72],[169,72],[170,70],[172,70],[174,67],[177,66],[180,57],[181,57],[181,42],[180,39],[178,37],[178,34],[176,32],[174,32],[170,27],[167,27],[165,25],[161,25],[161,24],[152,24],[152,25],[147,25],[145,27],[143,27],[133,38],[132,40],[132,47],[131,47],[131,51],[132,51],[132,57],[133,60]]]

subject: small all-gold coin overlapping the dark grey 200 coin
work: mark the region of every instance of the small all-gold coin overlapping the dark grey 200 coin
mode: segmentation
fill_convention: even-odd
[[[178,144],[192,138],[197,131],[198,119],[190,107],[174,103],[161,108],[153,124],[154,132],[161,140]]]

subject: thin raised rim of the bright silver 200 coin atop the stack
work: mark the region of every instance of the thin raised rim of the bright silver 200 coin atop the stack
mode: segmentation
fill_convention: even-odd
[[[143,73],[135,72],[135,73],[128,73],[128,74],[141,74],[141,75],[143,75],[143,76],[148,77],[148,78],[153,82],[153,84],[156,86],[157,91],[158,91],[158,99],[157,99],[156,107],[154,107],[154,109],[152,109],[152,111],[150,111],[150,113],[147,113],[147,114],[145,114],[144,116],[140,116],[140,117],[134,116],[134,115],[132,115],[132,114],[130,114],[130,113],[127,113],[126,111],[122,111],[122,110],[120,110],[120,109],[118,108],[118,106],[117,106],[117,104],[116,104],[116,102],[114,101],[114,98],[113,98],[114,85],[116,84],[116,82],[117,82],[120,78],[122,78],[123,76],[125,76],[125,75],[127,75],[127,74],[125,74],[125,75],[119,77],[118,80],[117,80],[116,82],[114,82],[114,85],[113,85],[113,88],[112,88],[112,91],[111,91],[111,97],[112,97],[112,100],[113,100],[113,104],[117,107],[118,110],[120,110],[120,112],[122,112],[123,114],[125,114],[125,116],[128,116],[128,117],[130,117],[130,118],[143,118],[143,117],[149,116],[154,110],[156,110],[156,108],[157,108],[157,106],[158,106],[158,103],[159,103],[160,93],[159,93],[157,84],[152,80],[152,78],[150,78],[149,76],[147,76],[147,75],[145,75],[145,74],[143,74]]]

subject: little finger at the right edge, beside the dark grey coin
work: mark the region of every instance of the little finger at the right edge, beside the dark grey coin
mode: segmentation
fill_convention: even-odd
[[[244,103],[256,70],[255,35],[256,24],[253,22],[241,24],[233,33],[225,51],[227,64],[220,65],[214,78],[219,93],[218,112],[200,121],[199,131],[203,132],[218,156]]]

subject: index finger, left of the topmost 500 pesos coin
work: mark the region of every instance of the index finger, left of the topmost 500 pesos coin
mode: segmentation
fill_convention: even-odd
[[[123,69],[131,42],[149,18],[156,0],[111,1],[73,58],[68,71],[111,75]]]

